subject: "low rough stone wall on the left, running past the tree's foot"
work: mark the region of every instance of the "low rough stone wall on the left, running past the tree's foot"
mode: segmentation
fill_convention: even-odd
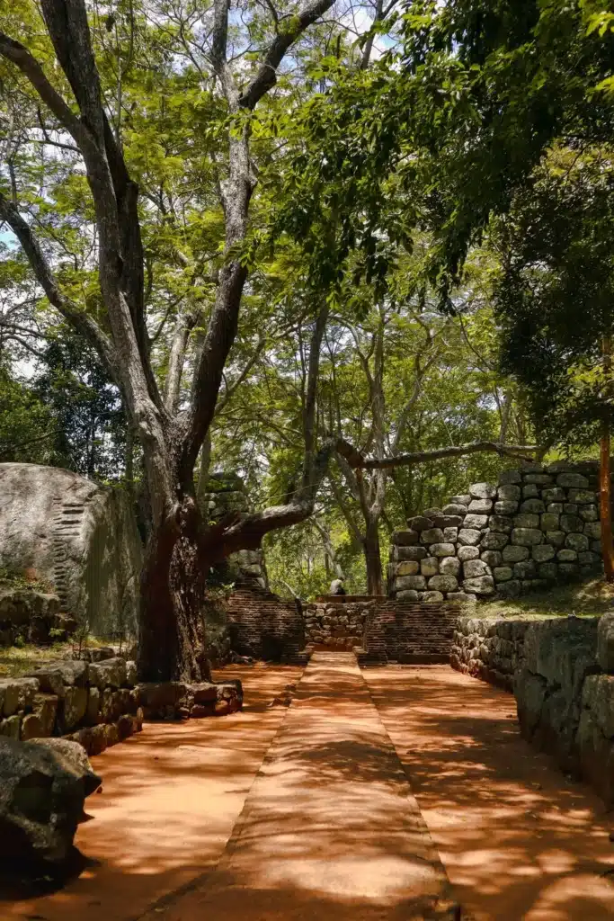
[[[136,684],[133,661],[65,659],[23,678],[0,679],[0,735],[60,737],[99,754],[139,732],[144,719],[222,716],[242,702],[236,681]]]

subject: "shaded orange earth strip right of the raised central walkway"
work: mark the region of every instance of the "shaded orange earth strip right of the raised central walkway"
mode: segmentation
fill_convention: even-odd
[[[614,916],[614,814],[519,737],[511,694],[440,666],[365,679],[466,910],[496,921]]]

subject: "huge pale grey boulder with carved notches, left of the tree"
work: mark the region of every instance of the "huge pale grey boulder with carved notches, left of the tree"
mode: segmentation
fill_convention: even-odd
[[[64,613],[94,632],[132,629],[142,559],[121,490],[55,467],[0,463],[0,566],[51,583]]]

